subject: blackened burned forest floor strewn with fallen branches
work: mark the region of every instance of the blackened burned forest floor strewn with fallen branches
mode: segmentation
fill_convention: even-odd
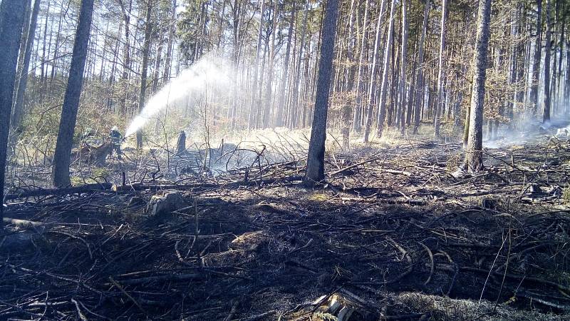
[[[568,320],[570,141],[494,147],[460,177],[460,143],[408,139],[315,188],[300,158],[11,192],[0,319]]]

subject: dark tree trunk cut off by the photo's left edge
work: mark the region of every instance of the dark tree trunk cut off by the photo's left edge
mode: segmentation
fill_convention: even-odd
[[[4,178],[10,128],[10,111],[16,82],[18,49],[24,26],[24,1],[4,0],[0,4],[0,231],[4,229]]]

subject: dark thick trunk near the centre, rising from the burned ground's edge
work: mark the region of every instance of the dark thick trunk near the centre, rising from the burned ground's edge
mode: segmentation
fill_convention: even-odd
[[[303,179],[304,184],[309,186],[324,179],[326,116],[328,112],[328,92],[331,88],[337,12],[338,0],[328,0],[326,3],[326,16],[323,21],[321,60],[318,63],[313,128],[311,129],[306,173]]]

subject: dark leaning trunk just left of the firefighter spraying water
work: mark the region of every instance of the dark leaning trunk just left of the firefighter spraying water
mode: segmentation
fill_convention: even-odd
[[[76,38],[73,42],[73,55],[71,56],[66,96],[63,98],[63,108],[59,121],[56,153],[53,155],[51,182],[56,187],[71,185],[69,178],[71,146],[73,144],[73,133],[76,127],[81,87],[83,86],[83,71],[87,58],[87,46],[92,16],[93,0],[81,1],[81,12],[79,13]]]

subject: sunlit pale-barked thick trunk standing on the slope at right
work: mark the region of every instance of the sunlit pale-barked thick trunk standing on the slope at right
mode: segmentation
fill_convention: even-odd
[[[465,168],[471,172],[483,167],[483,105],[485,78],[487,73],[487,49],[489,47],[489,21],[491,20],[491,0],[479,1],[477,19],[477,39],[473,57],[475,73],[471,93],[470,126],[465,153]]]

